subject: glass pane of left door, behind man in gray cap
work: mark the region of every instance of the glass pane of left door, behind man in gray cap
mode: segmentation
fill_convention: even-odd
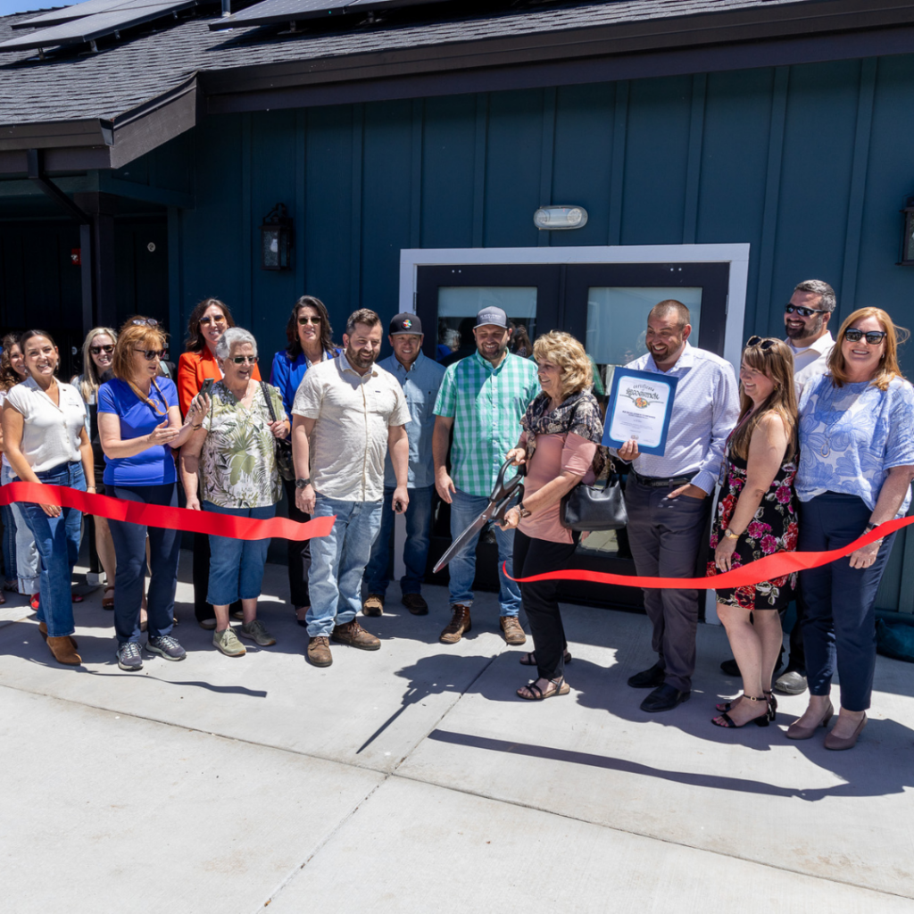
[[[532,342],[537,334],[536,286],[440,286],[438,290],[438,342],[452,348],[470,348],[476,314],[484,308],[501,308],[517,330],[526,329]],[[515,336],[517,336],[515,330]],[[454,336],[454,331],[459,335]],[[456,344],[456,345],[455,345]],[[514,351],[514,349],[512,349]],[[523,355],[531,356],[532,347]],[[520,355],[520,353],[518,353]]]

